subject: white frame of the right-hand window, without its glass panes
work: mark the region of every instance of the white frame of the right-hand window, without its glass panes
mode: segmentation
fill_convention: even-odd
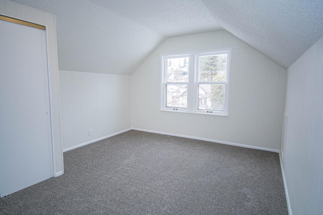
[[[203,82],[199,80],[199,57],[200,56],[210,56],[210,55],[220,55],[227,54],[227,71],[226,71],[226,81],[225,82]],[[229,112],[229,89],[230,89],[230,65],[231,65],[231,49],[213,50],[207,52],[199,52],[195,54],[195,82],[194,82],[194,111],[196,113],[210,114],[210,115],[221,115],[228,116]],[[204,110],[198,109],[198,97],[199,97],[199,85],[200,84],[210,84],[210,85],[224,85],[225,95],[224,95],[224,110]]]

